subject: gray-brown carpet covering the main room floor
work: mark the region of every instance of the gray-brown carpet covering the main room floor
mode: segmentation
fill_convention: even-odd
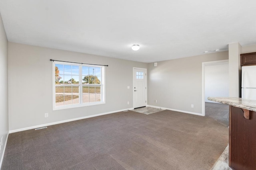
[[[2,170],[210,170],[227,144],[210,117],[118,112],[11,133]]]

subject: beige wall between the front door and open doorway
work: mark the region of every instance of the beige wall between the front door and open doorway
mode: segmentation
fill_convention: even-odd
[[[228,51],[149,63],[148,105],[202,114],[202,62],[226,59]]]

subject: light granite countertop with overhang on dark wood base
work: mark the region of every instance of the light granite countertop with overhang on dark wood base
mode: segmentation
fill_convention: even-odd
[[[208,100],[228,104],[234,107],[240,107],[242,109],[256,111],[256,100],[248,100],[243,98],[214,98],[209,97]]]

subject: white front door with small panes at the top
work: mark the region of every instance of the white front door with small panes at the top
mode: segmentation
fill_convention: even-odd
[[[133,68],[133,108],[146,106],[146,71]]]

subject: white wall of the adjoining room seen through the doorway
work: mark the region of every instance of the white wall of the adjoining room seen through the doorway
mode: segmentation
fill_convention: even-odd
[[[228,62],[215,63],[204,67],[205,102],[208,97],[228,97]]]

